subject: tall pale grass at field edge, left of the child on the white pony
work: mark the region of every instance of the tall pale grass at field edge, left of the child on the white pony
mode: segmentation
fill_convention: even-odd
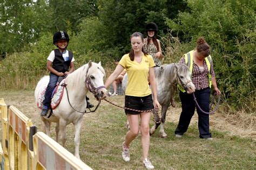
[[[0,61],[1,89],[35,88],[38,80],[48,74],[44,56],[39,53],[14,53]]]

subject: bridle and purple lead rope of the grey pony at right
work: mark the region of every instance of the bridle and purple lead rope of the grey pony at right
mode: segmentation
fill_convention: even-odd
[[[177,80],[177,83],[178,83],[181,87],[183,87],[185,90],[187,90],[186,85],[187,85],[188,83],[192,82],[192,81],[191,81],[191,80],[188,80],[186,83],[183,83],[183,81],[181,81],[181,78],[180,78],[180,76],[179,76],[179,74],[178,74],[178,67],[177,67],[177,65],[176,65],[175,63],[174,63],[174,65],[175,65],[176,70],[177,70],[177,71],[176,71],[176,75],[177,75],[177,76],[176,76],[176,80],[179,79],[181,85],[179,84],[179,81],[178,81],[178,80]],[[196,96],[194,95],[194,93],[192,93],[192,94],[193,94],[194,101],[195,101],[196,105],[198,106],[198,108],[199,108],[199,110],[200,110],[201,112],[203,112],[203,113],[205,113],[205,114],[212,114],[212,113],[214,113],[214,112],[219,108],[220,95],[218,95],[218,101],[217,101],[216,107],[213,109],[213,111],[211,111],[211,112],[205,112],[205,111],[203,111],[203,110],[201,109],[201,107],[199,106],[199,104],[198,104],[198,102],[197,102],[197,98],[196,98]],[[213,94],[212,104],[213,104],[213,101],[214,101],[216,95],[217,95],[217,93],[214,93],[214,94]],[[212,104],[210,105],[209,108],[212,107]]]

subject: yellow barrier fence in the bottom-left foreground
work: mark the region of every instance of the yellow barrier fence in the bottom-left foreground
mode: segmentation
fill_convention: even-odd
[[[0,98],[1,169],[91,169],[43,132],[16,107]]]

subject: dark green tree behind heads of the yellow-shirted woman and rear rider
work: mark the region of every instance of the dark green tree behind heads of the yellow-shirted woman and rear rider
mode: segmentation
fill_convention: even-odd
[[[145,25],[149,22],[155,22],[159,34],[163,34],[167,30],[164,16],[169,17],[172,16],[172,12],[177,13],[178,10],[186,9],[183,1],[174,1],[174,3],[179,4],[181,9],[169,8],[172,1],[166,0],[99,0],[98,16],[106,28],[102,32],[106,47],[117,47],[120,53],[127,53],[130,51],[131,34],[136,31],[145,34]]]

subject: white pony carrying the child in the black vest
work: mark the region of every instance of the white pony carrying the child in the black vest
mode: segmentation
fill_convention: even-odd
[[[63,97],[59,105],[52,111],[53,115],[50,118],[41,117],[47,135],[50,135],[51,122],[56,123],[56,141],[58,141],[58,133],[60,133],[60,141],[63,147],[66,142],[66,126],[70,123],[75,126],[75,157],[79,159],[80,128],[83,123],[83,112],[86,110],[85,96],[90,90],[99,100],[105,99],[107,90],[103,82],[104,77],[105,71],[100,62],[97,64],[90,60],[88,64],[79,67],[79,69],[66,77],[66,89],[64,88]],[[40,93],[48,85],[49,79],[49,76],[44,76],[38,82],[35,90],[36,103]]]

